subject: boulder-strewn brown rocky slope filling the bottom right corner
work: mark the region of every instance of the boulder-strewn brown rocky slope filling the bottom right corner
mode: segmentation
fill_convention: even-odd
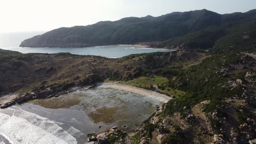
[[[224,59],[225,56],[219,59],[222,65],[225,65]],[[230,79],[220,84],[220,87],[231,91],[241,87],[242,92],[221,98],[222,104],[211,107],[211,111],[209,105],[216,103],[216,99],[198,100],[200,102],[190,107],[182,106],[179,99],[174,98],[160,106],[141,126],[128,129],[115,127],[92,134],[88,144],[104,144],[102,140],[113,141],[113,137],[115,144],[255,144],[256,73],[252,72],[255,66],[255,59],[241,55],[239,61],[230,62],[214,71],[218,78],[245,73],[240,79]],[[177,81],[177,78],[173,81]],[[173,114],[166,115],[170,105],[177,109]]]

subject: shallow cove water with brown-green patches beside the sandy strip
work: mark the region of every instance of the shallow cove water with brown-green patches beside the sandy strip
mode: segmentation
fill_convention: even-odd
[[[17,105],[22,110],[70,125],[84,134],[115,125],[141,124],[160,101],[112,88],[76,91],[59,98],[49,98]],[[101,127],[101,128],[99,128]]]

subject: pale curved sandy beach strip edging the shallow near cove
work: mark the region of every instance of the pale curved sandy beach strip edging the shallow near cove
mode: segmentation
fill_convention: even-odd
[[[167,95],[160,94],[160,93],[154,92],[154,91],[150,91],[150,90],[147,90],[144,88],[138,88],[138,87],[131,86],[131,85],[122,85],[122,84],[116,84],[116,83],[103,83],[99,87],[115,88],[115,89],[124,90],[124,91],[128,91],[128,92],[133,92],[133,93],[136,93],[139,95],[144,95],[147,97],[158,99],[159,101],[162,101],[164,103],[167,103],[170,99],[172,99],[171,97],[169,97]]]

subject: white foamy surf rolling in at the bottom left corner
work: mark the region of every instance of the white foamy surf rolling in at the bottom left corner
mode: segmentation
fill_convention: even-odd
[[[85,134],[71,126],[64,130],[62,123],[18,107],[1,109],[0,121],[0,134],[11,136],[22,144],[77,144],[75,137],[85,137]]]

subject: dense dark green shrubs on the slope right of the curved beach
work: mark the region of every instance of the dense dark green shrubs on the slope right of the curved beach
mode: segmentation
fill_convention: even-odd
[[[222,69],[222,67],[240,62],[241,56],[242,54],[235,52],[216,54],[197,65],[180,71],[175,79],[162,84],[161,87],[163,88],[170,87],[187,92],[181,97],[170,100],[163,114],[171,115],[174,112],[181,112],[184,115],[187,109],[204,100],[211,101],[209,105],[205,105],[205,108],[207,108],[206,112],[209,113],[218,110],[216,108],[217,105],[226,105],[222,101],[223,98],[242,95],[243,91],[240,86],[231,90],[230,88],[224,88],[223,85],[229,80],[236,80],[238,77],[243,77],[247,71],[246,69],[243,70],[242,74],[230,74],[226,76],[216,74],[216,71]],[[174,102],[176,105],[174,105]],[[184,109],[185,106],[187,107],[186,109]]]

